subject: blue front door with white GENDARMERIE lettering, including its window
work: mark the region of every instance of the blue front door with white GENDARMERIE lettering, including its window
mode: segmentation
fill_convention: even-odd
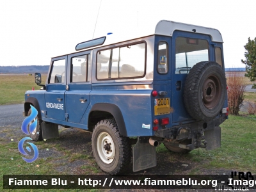
[[[45,92],[46,117],[65,121],[67,56],[53,58]]]

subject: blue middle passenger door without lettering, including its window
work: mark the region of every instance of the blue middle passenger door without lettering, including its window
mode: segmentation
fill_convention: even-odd
[[[90,104],[92,90],[90,52],[68,56],[68,89],[65,92],[66,120],[79,124]],[[89,76],[88,76],[89,74]]]

